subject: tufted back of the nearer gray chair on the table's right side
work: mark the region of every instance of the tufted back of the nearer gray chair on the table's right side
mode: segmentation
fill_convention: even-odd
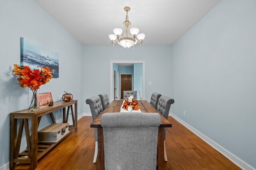
[[[161,96],[158,100],[158,105],[156,110],[159,113],[161,113],[164,116],[164,118],[168,119],[171,104],[174,104],[173,99],[166,96]]]

